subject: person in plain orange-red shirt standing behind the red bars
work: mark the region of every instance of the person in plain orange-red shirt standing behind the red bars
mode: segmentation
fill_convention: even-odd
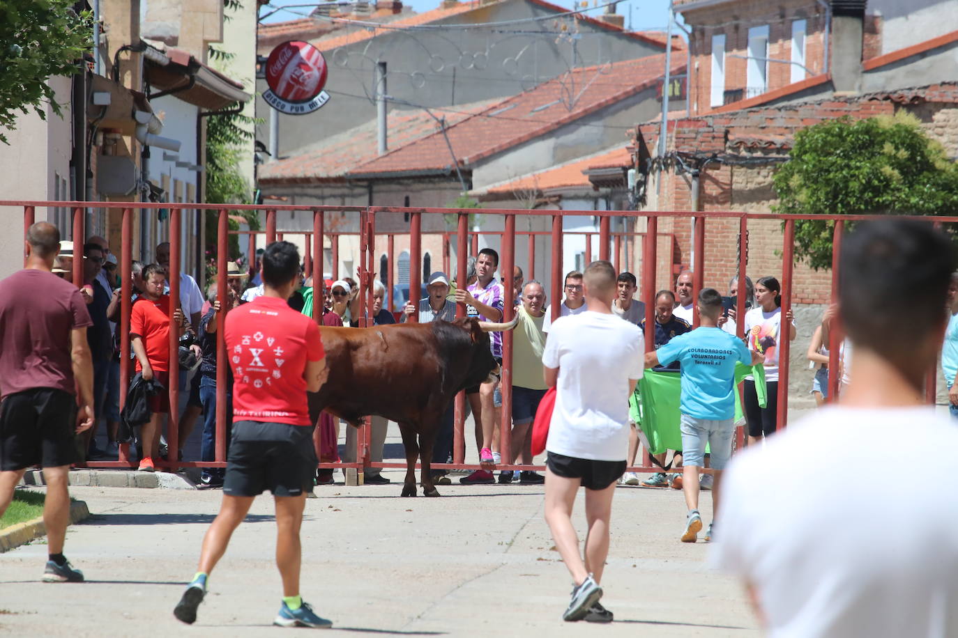
[[[155,379],[160,385],[170,387],[170,296],[164,295],[166,271],[157,264],[148,264],[143,269],[143,295],[137,298],[130,311],[129,338],[136,355],[136,371],[149,381]],[[173,315],[179,329],[183,329],[183,313],[177,309]],[[178,364],[177,364],[178,368]],[[152,412],[149,421],[140,429],[143,456],[140,470],[153,472],[154,459],[160,454],[160,431],[163,415],[170,413],[170,395],[160,392],[149,399]]]

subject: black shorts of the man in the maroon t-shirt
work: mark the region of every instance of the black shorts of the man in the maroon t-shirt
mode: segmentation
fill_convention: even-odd
[[[77,398],[52,387],[9,395],[0,404],[0,471],[58,468],[76,460]]]

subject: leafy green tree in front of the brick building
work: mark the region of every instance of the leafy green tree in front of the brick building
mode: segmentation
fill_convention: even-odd
[[[773,178],[776,212],[958,215],[958,166],[903,111],[802,129],[789,155]],[[833,229],[831,221],[796,221],[796,258],[831,268]]]

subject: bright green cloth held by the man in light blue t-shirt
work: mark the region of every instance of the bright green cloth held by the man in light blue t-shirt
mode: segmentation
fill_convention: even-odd
[[[735,367],[735,384],[739,385],[748,375],[755,377],[755,390],[759,406],[765,407],[765,368],[739,363]],[[666,450],[682,449],[682,433],[679,431],[679,397],[681,375],[676,371],[646,370],[628,400],[628,415],[642,428],[649,440],[649,452],[661,454]],[[741,419],[739,393],[735,393],[735,420]]]

